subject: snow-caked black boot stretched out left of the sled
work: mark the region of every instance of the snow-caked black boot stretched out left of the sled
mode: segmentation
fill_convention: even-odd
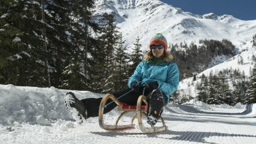
[[[88,112],[84,108],[83,102],[79,101],[72,92],[66,94],[64,103],[77,123],[83,123],[83,119],[88,118]]]

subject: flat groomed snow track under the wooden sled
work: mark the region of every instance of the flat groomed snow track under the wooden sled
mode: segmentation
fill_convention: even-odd
[[[201,112],[192,110],[191,106],[167,106],[162,116],[168,130],[156,134],[143,134],[137,127],[102,130],[94,117],[82,125],[74,123],[68,128],[65,126],[73,122],[57,121],[51,126],[21,125],[13,132],[0,134],[0,143],[255,143],[256,119],[246,116],[250,112],[250,105],[244,112],[235,114]],[[113,123],[117,115],[116,112],[105,115],[106,123]],[[130,119],[124,117],[122,123],[129,123]],[[48,128],[49,132],[43,128]]]

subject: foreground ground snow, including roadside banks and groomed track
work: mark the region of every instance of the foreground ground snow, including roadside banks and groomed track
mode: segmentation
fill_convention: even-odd
[[[256,141],[256,104],[208,105],[195,99],[182,105],[168,104],[162,114],[168,130],[143,134],[136,119],[135,128],[114,131],[101,129],[97,117],[90,117],[82,124],[75,123],[64,106],[64,95],[68,91],[0,85],[0,143],[228,144]],[[78,99],[104,95],[72,92]],[[119,114],[116,109],[105,114],[105,123],[114,123]],[[123,117],[120,123],[130,123],[131,116]],[[5,130],[9,126],[14,130]]]

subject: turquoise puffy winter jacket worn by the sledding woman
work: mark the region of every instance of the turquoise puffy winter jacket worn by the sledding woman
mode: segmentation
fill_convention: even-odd
[[[170,94],[176,91],[179,85],[179,69],[177,64],[173,62],[153,63],[142,60],[129,78],[129,88],[131,88],[133,81],[145,83],[157,81],[159,84],[157,90],[162,91],[169,99]]]

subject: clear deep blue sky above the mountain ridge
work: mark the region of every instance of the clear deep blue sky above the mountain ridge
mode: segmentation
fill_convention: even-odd
[[[161,0],[192,14],[229,14],[242,20],[256,19],[256,0]]]

